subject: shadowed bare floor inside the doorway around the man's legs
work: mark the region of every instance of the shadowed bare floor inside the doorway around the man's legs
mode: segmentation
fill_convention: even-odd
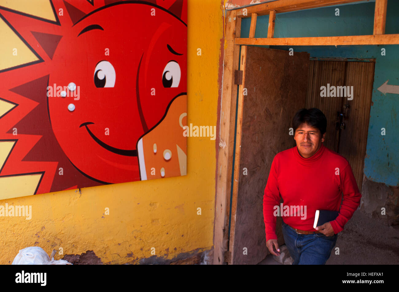
[[[336,247],[339,255],[336,255]],[[326,265],[398,265],[399,226],[386,226],[356,210],[338,233]],[[258,265],[281,265],[268,255]]]

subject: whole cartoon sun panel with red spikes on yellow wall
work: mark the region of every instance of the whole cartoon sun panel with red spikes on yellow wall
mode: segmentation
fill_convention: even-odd
[[[0,199],[186,174],[186,0],[8,2]]]

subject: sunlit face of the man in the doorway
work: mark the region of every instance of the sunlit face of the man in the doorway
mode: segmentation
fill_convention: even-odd
[[[304,158],[311,157],[320,149],[325,136],[326,133],[322,137],[319,129],[308,124],[300,125],[294,135],[299,154]]]

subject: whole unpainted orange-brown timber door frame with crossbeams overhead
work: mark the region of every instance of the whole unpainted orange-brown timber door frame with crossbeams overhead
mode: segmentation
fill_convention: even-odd
[[[293,12],[297,10],[320,8],[338,4],[359,2],[362,0],[277,0],[257,4],[246,8],[227,10],[225,15],[225,47],[223,62],[223,80],[220,112],[220,136],[217,153],[216,197],[215,197],[215,225],[213,235],[213,264],[231,264],[229,245],[229,227],[234,228],[235,211],[237,207],[238,171],[239,163],[232,169],[233,157],[239,161],[240,147],[234,149],[235,113],[237,110],[237,145],[241,140],[241,122],[243,113],[242,86],[239,88],[237,103],[237,86],[235,85],[235,71],[239,69],[239,62],[246,58],[247,45],[398,45],[399,34],[385,35],[385,18],[387,0],[375,1],[373,35],[351,35],[338,37],[288,37],[275,38],[274,22],[276,13]],[[256,20],[258,15],[269,15],[267,38],[255,38]],[[249,37],[241,38],[241,19],[251,17]],[[240,56],[240,45],[241,48]],[[238,106],[238,109],[237,109]],[[234,174],[233,193],[231,198],[231,176]],[[230,206],[231,199],[231,206]],[[229,226],[231,209],[232,222]]]

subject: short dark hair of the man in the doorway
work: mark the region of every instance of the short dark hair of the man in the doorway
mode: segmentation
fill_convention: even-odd
[[[322,135],[326,133],[327,119],[323,112],[318,108],[310,108],[308,110],[302,108],[296,112],[292,119],[292,128],[294,128],[294,133],[302,123],[308,124],[310,127],[318,128]]]

